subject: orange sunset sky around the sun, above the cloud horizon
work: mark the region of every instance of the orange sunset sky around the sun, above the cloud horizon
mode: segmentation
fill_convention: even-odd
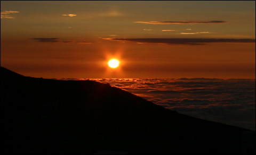
[[[255,1],[1,1],[1,66],[44,78],[255,79]]]

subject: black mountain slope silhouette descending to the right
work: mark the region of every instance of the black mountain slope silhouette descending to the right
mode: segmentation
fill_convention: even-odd
[[[239,154],[241,133],[249,131],[109,84],[26,77],[3,67],[1,115],[4,154]]]

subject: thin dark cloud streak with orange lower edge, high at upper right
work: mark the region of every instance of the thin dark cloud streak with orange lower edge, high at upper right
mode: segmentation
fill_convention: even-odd
[[[135,22],[143,24],[219,24],[226,23],[226,21],[149,21],[149,22]]]

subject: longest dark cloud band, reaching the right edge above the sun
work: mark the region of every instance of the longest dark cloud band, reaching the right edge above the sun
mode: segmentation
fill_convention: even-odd
[[[115,41],[133,41],[169,45],[205,45],[211,42],[255,42],[255,39],[203,39],[203,38],[105,38]]]

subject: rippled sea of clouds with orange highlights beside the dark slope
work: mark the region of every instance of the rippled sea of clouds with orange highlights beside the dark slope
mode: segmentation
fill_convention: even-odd
[[[181,114],[255,130],[255,80],[204,78],[83,80],[109,83]]]

